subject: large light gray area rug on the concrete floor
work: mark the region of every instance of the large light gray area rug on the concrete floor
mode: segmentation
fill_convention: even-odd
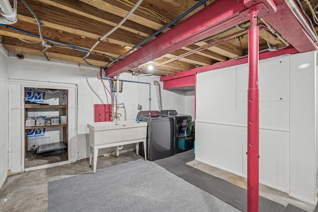
[[[142,159],[48,184],[49,212],[238,212]]]

